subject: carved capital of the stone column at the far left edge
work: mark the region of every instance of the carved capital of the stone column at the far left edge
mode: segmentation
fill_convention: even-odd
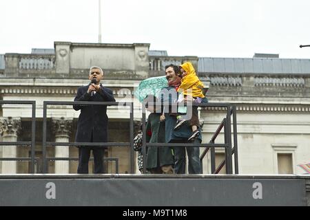
[[[8,135],[17,136],[21,131],[21,118],[0,118],[0,135],[2,137]]]

